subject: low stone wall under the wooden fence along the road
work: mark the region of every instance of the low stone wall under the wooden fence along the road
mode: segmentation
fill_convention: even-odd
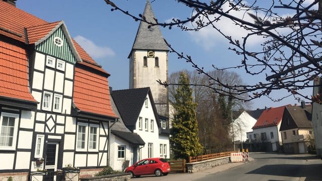
[[[227,164],[229,163],[230,156],[220,157],[220,158],[213,158],[209,160],[197,161],[193,163],[186,163],[188,173],[198,172],[204,169],[212,168],[214,166]]]

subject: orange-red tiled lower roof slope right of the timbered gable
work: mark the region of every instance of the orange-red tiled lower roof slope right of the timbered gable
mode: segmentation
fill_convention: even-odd
[[[75,67],[73,102],[81,111],[117,117],[111,107],[107,77],[79,67]]]

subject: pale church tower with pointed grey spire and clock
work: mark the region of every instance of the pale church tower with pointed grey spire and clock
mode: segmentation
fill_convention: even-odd
[[[147,0],[143,16],[147,22],[155,23],[155,17]],[[169,116],[168,87],[156,80],[168,80],[168,52],[162,33],[158,26],[148,28],[140,22],[133,47],[128,56],[130,60],[129,88],[150,87],[159,115]]]

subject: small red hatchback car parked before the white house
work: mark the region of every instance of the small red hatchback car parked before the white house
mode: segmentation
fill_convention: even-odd
[[[170,165],[164,158],[146,158],[127,167],[124,172],[131,173],[131,177],[139,177],[148,174],[161,176],[167,175],[170,172]]]

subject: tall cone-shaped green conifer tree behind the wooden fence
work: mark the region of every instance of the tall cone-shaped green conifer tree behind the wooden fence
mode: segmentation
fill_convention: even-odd
[[[180,73],[177,93],[175,94],[174,120],[171,128],[170,144],[175,158],[187,159],[201,154],[203,148],[198,137],[196,106],[192,90],[185,72]]]

